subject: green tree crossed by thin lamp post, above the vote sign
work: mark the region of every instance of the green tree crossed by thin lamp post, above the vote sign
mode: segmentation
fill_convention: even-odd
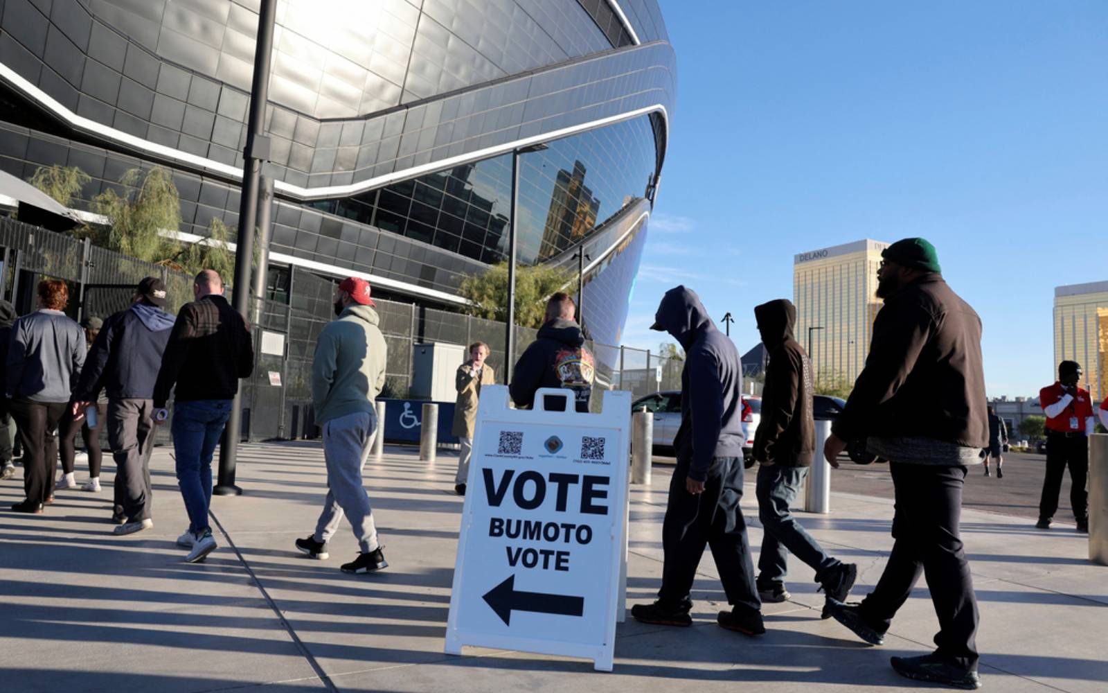
[[[573,276],[560,267],[516,267],[515,324],[542,327],[546,299],[565,289]],[[490,320],[507,319],[507,263],[497,263],[481,274],[466,276],[458,293],[471,302],[464,308],[468,315]]]

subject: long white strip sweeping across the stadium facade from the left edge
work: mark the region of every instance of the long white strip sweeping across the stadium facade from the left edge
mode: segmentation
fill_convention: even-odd
[[[22,75],[20,75],[19,73],[17,73],[14,70],[3,64],[2,62],[0,62],[0,79],[8,81],[10,84],[12,84],[17,89],[25,93],[28,96],[38,101],[41,105],[52,111],[55,115],[68,122],[73,128],[95,133],[109,140],[114,140],[122,144],[125,144],[132,149],[142,150],[150,154],[161,156],[163,159],[170,159],[173,161],[188,164],[191,166],[215,171],[227,177],[232,177],[235,180],[240,181],[243,179],[242,169],[230,166],[214,161],[212,159],[207,159],[205,156],[197,156],[196,154],[182,152],[181,150],[171,146],[165,146],[164,144],[157,144],[156,142],[143,140],[142,137],[136,137],[121,130],[116,130],[115,128],[109,128],[107,125],[98,123],[93,120],[84,118],[83,115],[78,115],[76,113],[66,109],[64,105],[59,103],[52,96],[43,92],[41,89],[39,89],[28,80],[25,80]],[[349,183],[347,185],[326,185],[321,187],[300,187],[299,185],[293,185],[284,181],[275,181],[274,187],[287,196],[295,197],[301,201],[326,200],[328,197],[348,197],[350,195],[366,192],[375,187],[381,187],[383,185],[388,185],[389,183],[396,183],[398,181],[417,177],[424,173],[431,173],[433,171],[450,169],[453,166],[468,164],[474,161],[480,161],[482,159],[497,156],[500,154],[505,154],[507,152],[511,152],[512,150],[531,146],[532,144],[538,144],[541,142],[548,142],[551,140],[558,140],[561,137],[578,134],[588,130],[594,130],[596,128],[603,128],[604,125],[611,125],[613,123],[632,120],[640,115],[646,115],[648,113],[661,114],[661,119],[665,122],[666,133],[668,134],[669,114],[666,111],[666,106],[664,106],[660,103],[656,103],[654,105],[644,106],[642,109],[636,109],[634,111],[628,111],[626,113],[609,115],[607,118],[589,121],[587,123],[571,125],[570,128],[562,128],[561,130],[541,133],[537,135],[532,135],[530,137],[523,137],[521,140],[515,140],[514,142],[506,142],[504,144],[489,146],[482,150],[478,150],[475,152],[459,154],[458,156],[441,159],[439,161],[434,161],[431,163],[413,166],[410,169],[404,169],[403,171],[397,171],[393,173],[379,175],[377,177],[368,179],[365,181],[359,181],[358,183]]]

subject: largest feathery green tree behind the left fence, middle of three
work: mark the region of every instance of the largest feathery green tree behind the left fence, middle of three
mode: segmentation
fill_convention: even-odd
[[[109,188],[92,198],[92,211],[109,220],[107,227],[88,232],[93,242],[152,263],[175,256],[179,242],[162,235],[181,227],[181,195],[170,171],[131,169],[120,183],[122,195]]]

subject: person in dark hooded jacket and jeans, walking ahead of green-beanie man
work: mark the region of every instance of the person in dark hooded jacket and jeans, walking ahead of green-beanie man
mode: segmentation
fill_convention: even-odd
[[[804,486],[815,452],[812,365],[793,338],[797,308],[786,298],[771,300],[755,307],[755,317],[769,354],[753,448],[753,458],[760,465],[755,495],[765,530],[758,556],[758,595],[763,602],[789,599],[784,577],[791,551],[815,571],[815,582],[828,599],[845,601],[858,567],[828,556],[789,510]],[[823,618],[830,616],[824,608]]]

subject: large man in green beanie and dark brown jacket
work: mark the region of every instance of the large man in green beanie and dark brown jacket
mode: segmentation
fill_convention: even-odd
[[[903,676],[977,689],[977,600],[960,534],[966,466],[988,444],[981,318],[943,281],[934,246],[897,241],[884,251],[865,368],[832,426],[823,455],[832,467],[847,441],[864,438],[889,461],[896,510],[889,562],[860,603],[830,601],[831,615],[881,644],[893,615],[926,572],[938,616],[937,649],[892,658]]]

